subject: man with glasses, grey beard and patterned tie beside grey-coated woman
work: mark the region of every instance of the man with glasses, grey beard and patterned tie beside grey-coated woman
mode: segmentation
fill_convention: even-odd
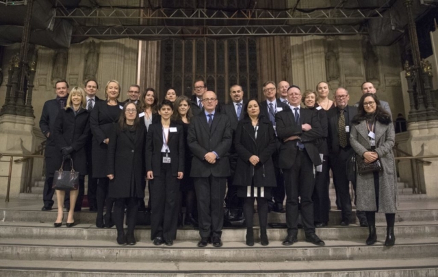
[[[350,146],[350,122],[357,114],[357,108],[348,106],[350,95],[345,88],[335,91],[336,108],[327,111],[329,121],[327,145],[329,146],[329,159],[333,172],[333,183],[342,211],[342,226],[350,224],[351,199],[350,181],[347,178],[346,162],[355,151]],[[356,191],[356,182],[352,182]],[[364,212],[357,212],[361,226],[368,226]]]

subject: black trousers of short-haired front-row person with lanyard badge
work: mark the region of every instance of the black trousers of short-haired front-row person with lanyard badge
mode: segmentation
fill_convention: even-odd
[[[172,176],[170,163],[162,163],[159,176],[151,183],[151,239],[162,237],[164,240],[177,238],[179,180]]]

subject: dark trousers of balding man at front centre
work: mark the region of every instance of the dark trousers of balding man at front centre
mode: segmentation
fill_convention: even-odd
[[[227,178],[194,178],[198,200],[199,234],[202,238],[220,237],[224,225],[224,197]]]

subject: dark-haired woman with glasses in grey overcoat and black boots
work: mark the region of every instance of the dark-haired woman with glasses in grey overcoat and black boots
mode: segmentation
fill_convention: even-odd
[[[352,120],[350,144],[357,159],[366,163],[380,160],[381,171],[357,175],[357,210],[365,210],[372,245],[377,240],[376,212],[385,213],[387,234],[385,246],[396,242],[394,221],[397,210],[396,162],[392,147],[396,134],[391,116],[382,108],[374,93],[365,93],[359,101],[357,115]]]

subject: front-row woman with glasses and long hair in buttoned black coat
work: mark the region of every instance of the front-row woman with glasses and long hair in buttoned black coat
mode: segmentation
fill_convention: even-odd
[[[134,245],[138,200],[144,198],[146,127],[140,124],[135,103],[123,106],[116,130],[110,136],[107,154],[107,177],[110,179],[108,196],[114,199],[114,224],[117,243]],[[128,231],[123,230],[127,209]]]

